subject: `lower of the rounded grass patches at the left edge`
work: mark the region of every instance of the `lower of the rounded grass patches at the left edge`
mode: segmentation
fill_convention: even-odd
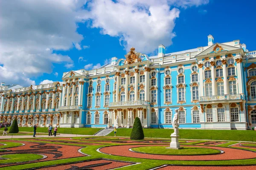
[[[24,162],[24,161],[32,161],[36,159],[43,158],[42,155],[37,154],[10,154],[0,156],[0,164],[12,163],[12,162]]]

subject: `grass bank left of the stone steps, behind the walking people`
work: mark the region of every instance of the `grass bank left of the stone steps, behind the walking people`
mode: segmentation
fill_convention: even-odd
[[[1,128],[0,130],[3,130]],[[48,133],[48,127],[38,127],[36,132],[38,133]],[[101,130],[101,128],[67,128],[67,127],[58,127],[58,133],[66,133],[66,134],[78,134],[78,135],[93,135],[96,132]],[[33,132],[33,127],[19,127],[20,132]],[[33,133],[32,133],[33,134]]]

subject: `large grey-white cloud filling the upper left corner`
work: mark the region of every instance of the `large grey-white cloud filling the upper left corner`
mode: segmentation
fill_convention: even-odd
[[[30,85],[33,83],[30,77],[50,74],[52,63],[72,63],[69,56],[53,51],[69,50],[73,43],[83,40],[76,31],[76,22],[85,3],[84,0],[1,2],[0,82]]]

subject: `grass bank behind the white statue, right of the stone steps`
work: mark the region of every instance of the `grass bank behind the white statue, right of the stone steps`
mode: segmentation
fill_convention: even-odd
[[[173,129],[143,129],[145,137],[170,138]],[[130,136],[131,128],[118,128],[116,136]],[[192,130],[180,129],[181,139],[207,139],[256,142],[256,132],[253,130]],[[111,132],[108,136],[114,136]]]

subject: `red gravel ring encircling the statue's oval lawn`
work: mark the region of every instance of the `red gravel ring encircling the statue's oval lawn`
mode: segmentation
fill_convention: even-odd
[[[171,156],[171,155],[153,155],[153,154],[144,154],[144,153],[135,153],[129,151],[133,147],[144,147],[144,146],[161,146],[161,145],[119,145],[111,147],[103,147],[99,151],[102,153],[107,153],[116,156],[126,156],[134,158],[145,158],[145,159],[161,159],[161,160],[194,160],[194,161],[209,161],[209,160],[233,160],[233,159],[251,159],[256,158],[256,153],[239,150],[226,147],[212,147],[212,146],[186,146],[186,147],[203,147],[210,149],[223,150],[225,153],[217,155],[202,155],[202,156]]]

